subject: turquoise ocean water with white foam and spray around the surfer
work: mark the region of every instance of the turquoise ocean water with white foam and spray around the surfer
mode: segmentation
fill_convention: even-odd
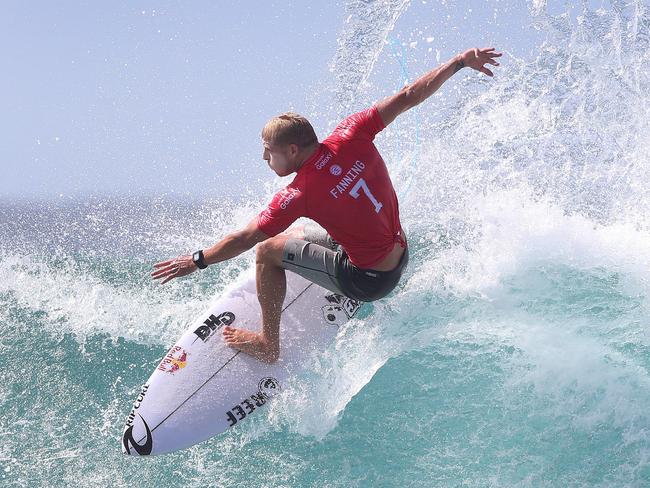
[[[362,105],[409,8],[364,5],[332,65],[341,107]],[[0,484],[650,486],[650,14],[580,5],[530,2],[534,56],[459,77],[466,96],[379,136],[412,249],[402,283],[265,415],[191,449],[124,457],[124,420],[253,253],[165,287],[148,273],[271,188],[3,201]]]

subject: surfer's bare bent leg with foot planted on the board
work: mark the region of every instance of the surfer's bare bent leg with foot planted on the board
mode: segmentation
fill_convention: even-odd
[[[226,326],[226,344],[261,361],[272,363],[280,355],[280,317],[287,293],[287,277],[282,267],[284,246],[291,237],[300,237],[302,227],[296,227],[257,245],[256,285],[262,309],[262,331],[251,332]]]

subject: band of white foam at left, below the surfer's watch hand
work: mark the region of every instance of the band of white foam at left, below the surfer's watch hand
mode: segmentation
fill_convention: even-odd
[[[239,267],[241,263],[232,263],[224,273],[237,273]],[[0,293],[10,294],[15,306],[36,313],[44,330],[54,335],[72,333],[80,340],[109,334],[171,344],[226,285],[218,282],[210,288],[214,292],[204,294],[196,282],[165,286],[138,282],[116,286],[74,263],[53,266],[33,256],[4,255],[0,260]],[[193,291],[184,290],[188,285]]]

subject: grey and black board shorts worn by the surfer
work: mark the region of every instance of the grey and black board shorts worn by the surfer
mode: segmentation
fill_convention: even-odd
[[[287,240],[282,267],[355,300],[372,302],[388,295],[399,283],[408,264],[407,246],[399,264],[391,271],[358,268],[322,227],[305,225],[304,234],[304,240]]]

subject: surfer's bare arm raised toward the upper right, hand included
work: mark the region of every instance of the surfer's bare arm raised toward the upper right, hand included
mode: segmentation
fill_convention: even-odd
[[[445,81],[462,68],[468,67],[485,73],[488,76],[494,76],[492,71],[485,67],[485,64],[489,63],[494,66],[499,66],[499,63],[494,60],[494,58],[498,58],[499,56],[501,56],[501,53],[495,52],[493,47],[483,49],[472,48],[454,56],[445,64],[429,71],[410,85],[406,85],[395,95],[379,102],[377,104],[377,110],[379,111],[381,120],[384,122],[384,125],[390,124],[399,114],[424,102]]]

